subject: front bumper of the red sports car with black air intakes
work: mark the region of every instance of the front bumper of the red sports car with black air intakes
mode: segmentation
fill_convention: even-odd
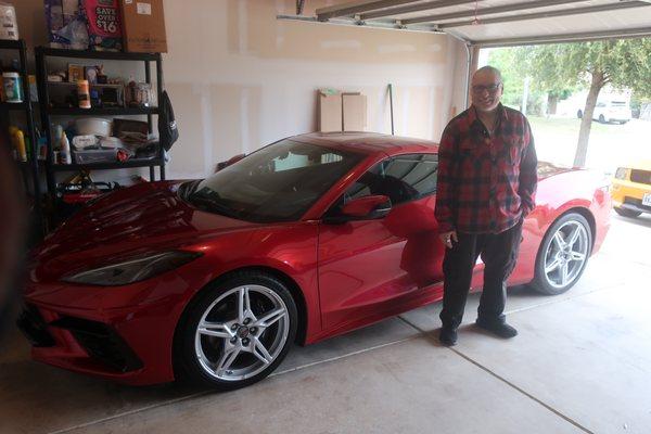
[[[156,280],[120,288],[29,282],[18,328],[36,361],[132,385],[170,382],[188,290],[179,281],[165,282],[169,290],[156,297]]]

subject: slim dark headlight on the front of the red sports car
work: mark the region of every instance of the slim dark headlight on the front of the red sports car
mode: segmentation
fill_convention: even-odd
[[[117,264],[68,275],[62,280],[100,286],[126,285],[178,268],[201,255],[195,252],[171,251],[135,256]]]

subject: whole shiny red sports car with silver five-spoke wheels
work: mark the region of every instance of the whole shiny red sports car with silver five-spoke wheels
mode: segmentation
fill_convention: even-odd
[[[102,196],[33,254],[20,320],[33,357],[130,384],[187,374],[235,388],[295,341],[439,301],[436,152],[311,133],[204,180]],[[611,203],[590,171],[541,164],[539,176],[510,284],[559,294],[601,245]]]

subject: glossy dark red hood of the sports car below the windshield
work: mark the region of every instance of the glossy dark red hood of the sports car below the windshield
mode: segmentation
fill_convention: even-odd
[[[181,182],[146,182],[87,206],[30,254],[31,279],[100,267],[122,258],[189,247],[220,233],[259,227],[190,206]]]

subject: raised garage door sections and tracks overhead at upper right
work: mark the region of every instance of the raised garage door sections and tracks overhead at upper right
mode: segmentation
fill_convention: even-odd
[[[651,36],[651,0],[366,0],[279,17],[445,33],[481,47]]]

